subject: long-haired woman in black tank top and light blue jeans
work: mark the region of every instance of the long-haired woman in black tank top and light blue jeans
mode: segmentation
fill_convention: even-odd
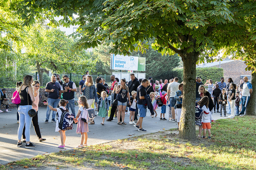
[[[19,116],[20,116],[20,126],[18,129],[18,143],[17,147],[20,147],[22,145],[21,143],[21,136],[23,127],[26,124],[26,146],[25,148],[34,148],[36,147],[34,144],[30,142],[30,125],[32,121],[32,117],[29,116],[28,111],[32,109],[33,107],[37,107],[35,102],[35,97],[33,95],[33,89],[31,84],[33,83],[33,76],[26,75],[23,79],[23,83],[21,84],[21,87],[19,88],[18,92],[20,95],[21,103],[18,108]]]

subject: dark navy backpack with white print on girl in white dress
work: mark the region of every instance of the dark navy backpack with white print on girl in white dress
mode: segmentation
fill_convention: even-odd
[[[73,120],[75,118],[75,115],[73,115],[72,113],[69,113],[69,110],[66,109],[62,109],[60,108],[62,111],[62,115],[60,117],[59,120],[59,114],[57,112],[57,116],[56,119],[59,120],[59,128],[61,130],[72,130],[73,129]]]

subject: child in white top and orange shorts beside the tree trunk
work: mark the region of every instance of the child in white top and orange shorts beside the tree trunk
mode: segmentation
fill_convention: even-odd
[[[204,96],[199,102],[198,105],[202,106],[202,128],[203,128],[203,138],[205,139],[206,129],[208,131],[208,139],[211,139],[211,122],[213,122],[212,114],[208,108],[209,98]]]

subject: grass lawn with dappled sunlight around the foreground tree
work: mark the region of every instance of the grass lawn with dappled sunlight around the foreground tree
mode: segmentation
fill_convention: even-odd
[[[170,129],[38,155],[0,169],[256,169],[255,130],[256,116],[240,116],[212,123],[211,139],[181,140]]]

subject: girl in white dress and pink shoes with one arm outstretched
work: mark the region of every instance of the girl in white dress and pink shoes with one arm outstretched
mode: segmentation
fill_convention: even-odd
[[[65,148],[65,141],[66,141],[66,130],[61,130],[59,128],[59,121],[61,119],[61,115],[64,112],[68,112],[69,110],[65,107],[68,103],[68,100],[61,99],[59,102],[59,108],[53,108],[49,105],[48,102],[44,103],[47,105],[52,111],[58,112],[58,121],[56,121],[55,132],[59,132],[61,135],[61,144],[59,144],[58,148]]]

